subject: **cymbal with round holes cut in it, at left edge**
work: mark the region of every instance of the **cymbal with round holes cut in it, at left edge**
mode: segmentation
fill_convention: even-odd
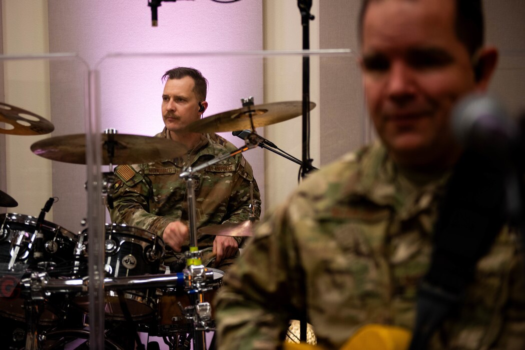
[[[55,126],[45,118],[33,112],[0,102],[0,134],[8,135],[44,135],[55,130]]]

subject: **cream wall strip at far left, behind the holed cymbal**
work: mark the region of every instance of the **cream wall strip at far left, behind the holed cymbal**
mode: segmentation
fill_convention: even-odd
[[[48,52],[47,1],[2,1],[2,29],[4,55]],[[9,60],[3,67],[5,103],[51,120],[48,62]],[[38,216],[52,195],[50,163],[30,151],[45,137],[6,135],[6,189],[19,204],[9,211]],[[53,211],[46,218],[52,220]]]

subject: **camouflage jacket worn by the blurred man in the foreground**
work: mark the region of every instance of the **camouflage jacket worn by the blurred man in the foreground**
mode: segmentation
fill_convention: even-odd
[[[415,185],[378,144],[311,175],[263,220],[225,278],[216,299],[219,349],[278,348],[288,320],[305,309],[325,349],[340,348],[366,323],[412,329],[448,178]],[[525,349],[518,248],[503,229],[430,348]]]

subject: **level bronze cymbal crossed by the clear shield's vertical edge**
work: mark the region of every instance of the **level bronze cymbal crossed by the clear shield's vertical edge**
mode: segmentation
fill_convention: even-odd
[[[113,156],[109,157],[108,144],[113,141]],[[163,137],[129,134],[102,134],[102,164],[138,164],[172,159],[186,153],[181,143]],[[36,155],[73,164],[86,164],[86,135],[74,134],[50,137],[31,145]]]

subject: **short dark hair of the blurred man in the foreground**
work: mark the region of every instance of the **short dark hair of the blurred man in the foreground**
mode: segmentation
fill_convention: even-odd
[[[363,38],[363,20],[368,5],[378,0],[362,0],[359,13],[359,37]],[[471,57],[485,41],[483,6],[481,0],[455,0],[456,4],[456,35],[463,43]]]

